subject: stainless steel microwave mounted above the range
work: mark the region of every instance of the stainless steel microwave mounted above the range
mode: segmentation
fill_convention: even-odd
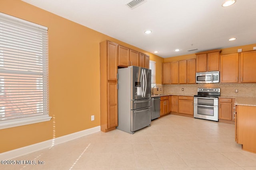
[[[220,82],[220,72],[197,72],[196,83],[218,83]]]

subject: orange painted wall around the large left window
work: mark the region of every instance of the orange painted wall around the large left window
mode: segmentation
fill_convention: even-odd
[[[108,39],[148,54],[160,65],[164,61],[21,0],[1,0],[0,4],[2,13],[48,27],[49,113],[53,117],[51,121],[0,130],[0,152],[100,125],[100,42]],[[157,65],[157,81],[161,82],[158,70],[161,66]],[[95,115],[94,121],[90,121],[91,115]]]

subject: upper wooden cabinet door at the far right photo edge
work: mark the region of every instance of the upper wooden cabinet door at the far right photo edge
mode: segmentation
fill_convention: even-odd
[[[256,51],[241,53],[241,82],[256,82]]]

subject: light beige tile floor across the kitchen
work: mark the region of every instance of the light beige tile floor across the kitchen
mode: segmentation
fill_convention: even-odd
[[[20,156],[43,165],[1,165],[4,170],[256,170],[256,154],[234,141],[234,125],[166,115],[134,134],[97,132]]]

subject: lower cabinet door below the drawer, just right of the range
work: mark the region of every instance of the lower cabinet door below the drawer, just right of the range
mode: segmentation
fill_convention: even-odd
[[[232,121],[232,103],[220,102],[219,119]]]

